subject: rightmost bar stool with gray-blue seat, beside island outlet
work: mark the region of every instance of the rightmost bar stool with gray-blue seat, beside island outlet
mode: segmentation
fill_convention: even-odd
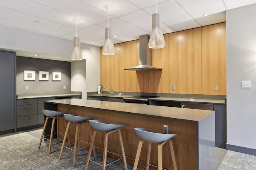
[[[158,151],[157,151],[158,152],[158,170],[162,170],[162,146],[165,143],[169,143],[174,170],[177,170],[177,165],[176,165],[175,156],[174,156],[174,150],[173,150],[173,146],[172,146],[172,137],[177,136],[177,134],[156,133],[156,132],[152,132],[145,128],[140,128],[140,127],[134,128],[134,131],[135,131],[136,135],[138,135],[138,137],[140,137],[140,142],[138,145],[138,150],[136,153],[133,170],[137,169],[138,161],[140,158],[140,151],[141,151],[142,144],[144,143],[144,141],[148,142],[148,155],[147,155],[147,162],[146,162],[146,166],[145,166],[145,167],[147,167],[146,170],[148,170],[149,165],[152,165],[152,164],[150,164],[150,151],[151,151],[152,143],[158,143]],[[152,166],[154,166],[154,165],[152,165]]]

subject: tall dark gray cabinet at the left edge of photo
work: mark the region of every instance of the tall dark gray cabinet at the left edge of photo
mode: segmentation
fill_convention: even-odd
[[[0,51],[0,133],[14,131],[16,112],[16,53]]]

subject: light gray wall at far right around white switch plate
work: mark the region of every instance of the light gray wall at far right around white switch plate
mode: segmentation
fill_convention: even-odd
[[[228,10],[227,144],[256,149],[256,4]],[[251,80],[242,89],[241,81]]]

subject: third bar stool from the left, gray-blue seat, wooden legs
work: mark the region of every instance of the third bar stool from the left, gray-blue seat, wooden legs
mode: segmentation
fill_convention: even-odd
[[[92,146],[94,144],[94,139],[95,139],[96,133],[98,131],[106,131],[105,138],[104,138],[103,160],[102,160],[102,165],[100,165],[96,162],[94,162],[94,163],[102,166],[102,170],[105,170],[106,166],[108,166],[109,164],[112,164],[112,163],[114,163],[114,162],[116,162],[120,159],[124,159],[125,169],[128,170],[127,163],[126,163],[126,157],[125,157],[125,153],[124,153],[124,144],[123,144],[123,140],[122,140],[121,131],[120,131],[120,129],[117,129],[117,128],[120,128],[120,127],[124,127],[124,125],[108,124],[104,121],[99,121],[99,120],[89,120],[89,122],[90,122],[90,125],[94,128],[94,131],[93,131],[93,135],[92,135],[92,143],[90,145],[90,149],[89,149],[89,152],[88,152],[88,156],[87,156],[87,159],[86,159],[86,164],[85,164],[84,170],[87,170],[89,161],[94,162],[92,160],[92,158],[94,158],[95,156],[92,157],[92,158],[90,158],[90,156],[91,156],[91,152],[92,152]],[[120,145],[121,145],[121,149],[122,149],[122,156],[117,155],[117,154],[115,154],[115,155],[120,156],[122,158],[120,158],[118,160],[115,160],[115,161],[106,165],[107,154],[108,154],[108,152],[110,152],[110,151],[108,151],[108,135],[111,134],[111,133],[114,133],[116,131],[119,133],[119,141],[120,141]],[[112,152],[110,152],[110,153],[112,153]],[[112,153],[112,154],[114,154],[114,153]],[[98,155],[100,155],[100,154],[98,154]]]

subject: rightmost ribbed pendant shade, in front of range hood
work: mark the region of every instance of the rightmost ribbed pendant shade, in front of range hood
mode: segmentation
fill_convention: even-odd
[[[165,41],[161,28],[161,16],[159,13],[152,15],[152,31],[148,42],[148,48],[160,49],[164,48]]]

